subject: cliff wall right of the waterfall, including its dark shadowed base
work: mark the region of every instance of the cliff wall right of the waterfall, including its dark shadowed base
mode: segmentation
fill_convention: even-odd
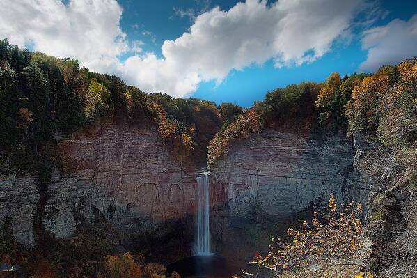
[[[339,203],[366,205],[370,178],[360,155],[344,134],[323,139],[269,129],[233,146],[210,169],[212,200],[225,200],[212,217],[215,248],[251,256],[294,226],[300,213],[326,206],[331,193]]]

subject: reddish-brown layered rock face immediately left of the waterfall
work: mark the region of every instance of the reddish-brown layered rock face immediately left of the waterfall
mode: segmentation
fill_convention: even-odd
[[[56,238],[72,235],[95,210],[127,239],[193,213],[195,175],[175,162],[155,130],[110,125],[61,146],[77,171],[49,185],[44,225]]]

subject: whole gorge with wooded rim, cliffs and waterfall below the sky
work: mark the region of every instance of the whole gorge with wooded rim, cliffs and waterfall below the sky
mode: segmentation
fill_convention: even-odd
[[[336,238],[366,247],[354,271],[413,270],[416,59],[242,108],[0,47],[0,259],[20,277],[96,278],[120,261],[135,278],[192,276],[194,263],[230,277],[265,260],[272,238],[353,201],[363,215]]]

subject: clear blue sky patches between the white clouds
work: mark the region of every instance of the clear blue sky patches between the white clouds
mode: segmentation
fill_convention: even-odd
[[[161,46],[164,40],[173,40],[187,32],[192,20],[180,17],[175,9],[189,8],[196,11],[204,8],[207,2],[210,8],[219,6],[222,10],[228,10],[238,1],[195,1],[195,0],[163,0],[163,1],[133,1],[123,0],[120,4],[125,12],[121,20],[121,26],[127,36],[143,40],[143,49],[152,51],[161,56]],[[375,22],[375,26],[385,25],[395,18],[409,20],[417,13],[416,1],[379,1],[381,9],[388,12],[384,18]],[[155,16],[157,15],[157,16]],[[136,29],[135,24],[141,26]],[[151,31],[156,40],[152,42],[150,36],[144,36],[141,30]],[[254,100],[263,100],[265,93],[274,88],[304,81],[322,82],[331,72],[340,72],[341,75],[349,75],[353,72],[363,72],[359,69],[361,62],[365,61],[367,51],[361,49],[359,34],[350,45],[339,45],[321,59],[301,66],[274,68],[272,60],[265,65],[251,65],[242,71],[233,70],[219,86],[215,82],[203,82],[193,97],[214,102],[235,102],[242,106],[250,106]],[[394,51],[394,50],[393,50]]]

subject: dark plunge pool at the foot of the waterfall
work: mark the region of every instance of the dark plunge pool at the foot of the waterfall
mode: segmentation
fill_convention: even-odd
[[[176,271],[181,277],[231,277],[240,272],[219,255],[191,256],[168,265],[168,275]]]

